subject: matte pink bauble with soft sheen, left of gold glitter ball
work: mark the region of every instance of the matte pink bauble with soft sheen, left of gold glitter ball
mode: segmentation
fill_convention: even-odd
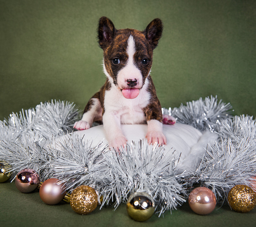
[[[39,195],[46,204],[55,205],[64,199],[66,190],[64,184],[58,184],[58,181],[56,178],[50,178],[40,186]]]

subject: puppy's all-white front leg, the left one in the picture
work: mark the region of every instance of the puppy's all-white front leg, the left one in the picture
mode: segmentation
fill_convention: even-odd
[[[102,116],[103,126],[107,134],[108,145],[116,151],[125,146],[127,139],[121,130],[120,116],[115,113],[104,113]]]

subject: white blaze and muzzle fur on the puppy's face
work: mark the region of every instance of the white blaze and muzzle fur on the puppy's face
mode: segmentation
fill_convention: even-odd
[[[136,67],[134,64],[133,56],[135,54],[135,41],[132,35],[127,40],[127,49],[126,53],[128,55],[128,60],[124,68],[122,68],[117,74],[117,84],[120,88],[127,88],[126,80],[129,79],[136,79],[137,80],[137,87],[142,86],[142,74],[140,69]]]

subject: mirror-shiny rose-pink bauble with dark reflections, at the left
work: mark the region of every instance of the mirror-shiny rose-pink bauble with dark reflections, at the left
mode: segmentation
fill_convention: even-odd
[[[22,169],[15,178],[16,187],[24,193],[34,191],[39,183],[39,176],[33,169]]]

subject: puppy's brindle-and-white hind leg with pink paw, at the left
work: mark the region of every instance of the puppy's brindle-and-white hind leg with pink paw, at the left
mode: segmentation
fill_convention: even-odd
[[[78,130],[89,129],[92,127],[94,121],[100,121],[102,119],[102,106],[100,99],[95,98],[99,94],[96,93],[87,103],[84,108],[84,114],[80,121],[76,121],[74,128]]]

